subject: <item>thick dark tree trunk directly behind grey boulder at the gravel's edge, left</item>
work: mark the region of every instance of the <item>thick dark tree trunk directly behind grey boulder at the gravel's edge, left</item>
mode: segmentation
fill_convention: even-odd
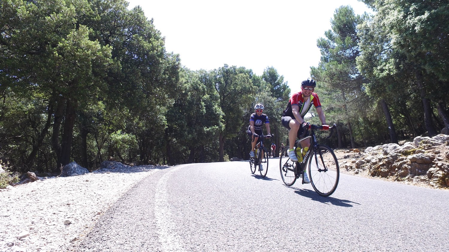
[[[64,131],[62,134],[62,148],[61,148],[61,164],[65,166],[70,163],[73,125],[75,124],[75,110],[77,107],[76,100],[67,99],[66,118],[64,120]]]

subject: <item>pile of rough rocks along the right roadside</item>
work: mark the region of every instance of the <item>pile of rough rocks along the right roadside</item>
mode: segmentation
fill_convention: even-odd
[[[340,171],[431,188],[449,188],[449,136],[415,137],[403,145],[385,144],[336,150]]]

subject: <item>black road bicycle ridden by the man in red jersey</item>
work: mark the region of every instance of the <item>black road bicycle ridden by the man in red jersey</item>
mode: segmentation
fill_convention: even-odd
[[[310,136],[302,138],[295,142],[295,147],[300,150],[300,141],[311,138],[312,142],[307,152],[304,154],[302,162],[292,161],[288,157],[288,150],[290,146],[286,146],[282,149],[282,154],[279,161],[279,169],[281,171],[282,181],[287,186],[295,184],[296,179],[303,177],[302,183],[304,184],[304,176],[301,176],[308,167],[309,179],[313,189],[321,196],[329,196],[337,189],[340,170],[337,157],[334,151],[327,145],[320,145],[317,142],[317,136],[315,130],[322,129],[323,127],[315,124],[307,124],[305,130],[310,130]],[[337,128],[337,125],[329,127],[331,130],[329,136],[332,136],[332,132]],[[305,134],[304,130],[304,134]],[[299,151],[299,153],[301,153]]]

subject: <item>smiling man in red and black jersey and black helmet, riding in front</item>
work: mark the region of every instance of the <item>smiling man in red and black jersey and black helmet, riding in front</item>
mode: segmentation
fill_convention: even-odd
[[[304,115],[307,114],[312,105],[315,106],[318,113],[318,118],[321,120],[321,124],[329,127],[329,125],[326,124],[326,117],[324,116],[324,112],[321,108],[320,99],[318,98],[317,93],[313,93],[316,85],[317,83],[310,78],[303,81],[301,83],[301,91],[292,94],[290,100],[288,101],[287,108],[282,114],[282,125],[289,129],[288,140],[291,149],[288,151],[288,156],[292,161],[298,161],[294,149],[296,136],[300,136],[304,132],[304,126],[307,125],[307,122],[304,121]],[[308,134],[304,137],[307,136]],[[301,146],[303,148],[308,148],[310,146],[310,141],[308,138],[299,139],[299,141],[301,141]],[[304,182],[310,183],[305,171]]]

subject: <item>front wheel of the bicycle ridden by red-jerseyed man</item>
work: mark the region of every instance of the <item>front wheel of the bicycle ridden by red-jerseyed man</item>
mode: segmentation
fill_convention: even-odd
[[[313,150],[308,170],[313,189],[321,196],[329,196],[337,189],[340,170],[334,151],[326,145]]]

